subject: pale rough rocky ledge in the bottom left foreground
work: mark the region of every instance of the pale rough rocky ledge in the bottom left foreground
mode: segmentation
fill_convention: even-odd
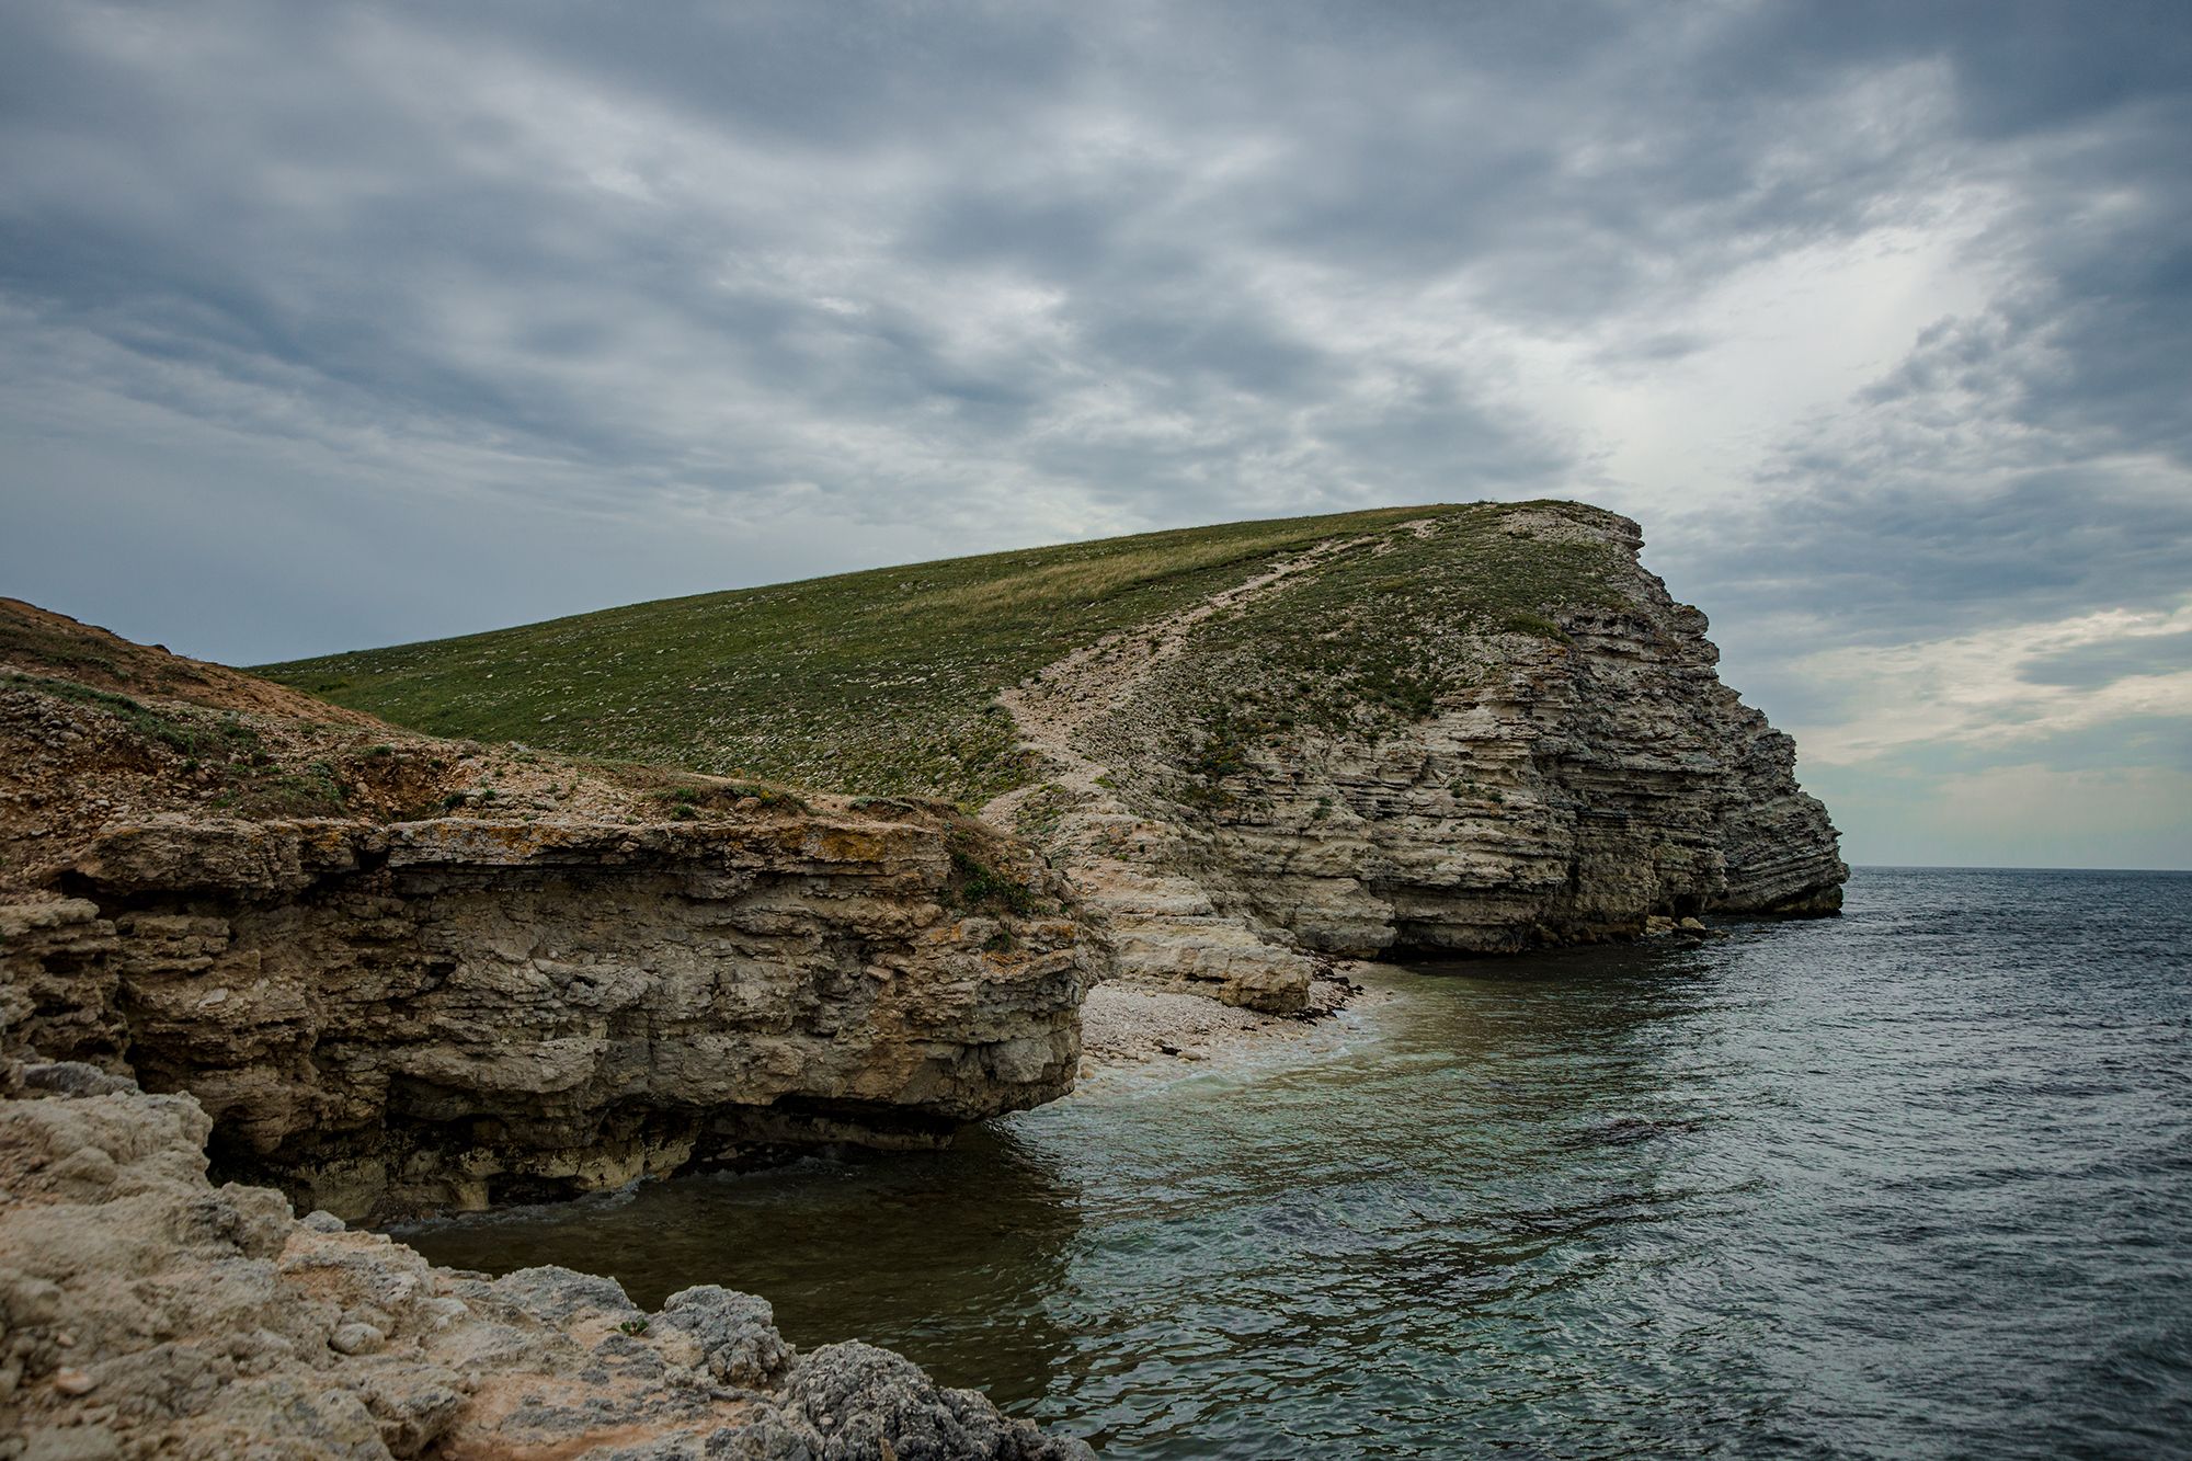
[[[213,1187],[191,1097],[0,1066],[7,1461],[1076,1461],[872,1345],[796,1351],[752,1294],[434,1268]]]

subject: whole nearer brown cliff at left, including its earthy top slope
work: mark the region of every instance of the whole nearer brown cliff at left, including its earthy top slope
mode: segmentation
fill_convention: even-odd
[[[221,1176],[379,1220],[1072,1086],[1103,945],[949,807],[313,722],[0,623],[46,634],[0,671],[0,1053],[195,1095]]]

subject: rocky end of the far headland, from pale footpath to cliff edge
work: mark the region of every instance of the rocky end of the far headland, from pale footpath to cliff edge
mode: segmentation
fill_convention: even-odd
[[[1109,919],[1129,978],[1265,1009],[1300,1003],[1302,954],[1837,910],[1793,744],[1640,546],[1574,505],[1326,544],[1008,695],[1052,774],[995,812]]]

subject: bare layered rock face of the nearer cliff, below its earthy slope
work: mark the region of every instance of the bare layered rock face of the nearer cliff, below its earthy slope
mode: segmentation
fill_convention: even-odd
[[[907,823],[173,818],[0,921],[15,983],[92,996],[48,994],[26,1046],[127,1060],[206,1106],[230,1176],[386,1218],[1063,1095],[1074,924],[949,880]]]

